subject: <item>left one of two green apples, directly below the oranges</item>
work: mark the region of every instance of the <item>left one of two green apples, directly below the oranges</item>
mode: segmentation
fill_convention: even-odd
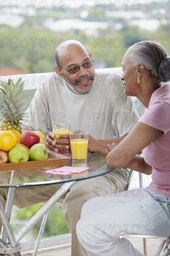
[[[27,162],[29,160],[28,151],[26,148],[15,146],[9,150],[9,162]]]

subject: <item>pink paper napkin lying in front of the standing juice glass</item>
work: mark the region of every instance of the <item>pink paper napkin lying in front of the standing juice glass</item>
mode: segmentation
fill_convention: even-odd
[[[71,167],[71,166],[63,166],[56,169],[51,169],[44,171],[44,174],[58,174],[58,175],[69,175],[73,173],[82,173],[86,170],[89,170],[88,167]]]

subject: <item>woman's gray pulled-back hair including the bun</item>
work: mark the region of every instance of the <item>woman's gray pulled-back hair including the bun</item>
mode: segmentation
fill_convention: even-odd
[[[170,56],[162,45],[153,41],[141,41],[132,45],[127,54],[133,67],[144,64],[157,82],[170,80]]]

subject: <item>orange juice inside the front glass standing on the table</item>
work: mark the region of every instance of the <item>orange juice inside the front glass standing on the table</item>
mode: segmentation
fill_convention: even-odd
[[[71,148],[73,159],[87,158],[88,141],[86,139],[73,139],[71,141]]]

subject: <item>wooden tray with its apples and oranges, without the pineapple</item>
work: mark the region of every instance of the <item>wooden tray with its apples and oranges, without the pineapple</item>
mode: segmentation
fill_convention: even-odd
[[[0,131],[0,171],[60,166],[69,161],[65,155],[47,149],[45,138],[39,131],[22,135],[16,130]]]

